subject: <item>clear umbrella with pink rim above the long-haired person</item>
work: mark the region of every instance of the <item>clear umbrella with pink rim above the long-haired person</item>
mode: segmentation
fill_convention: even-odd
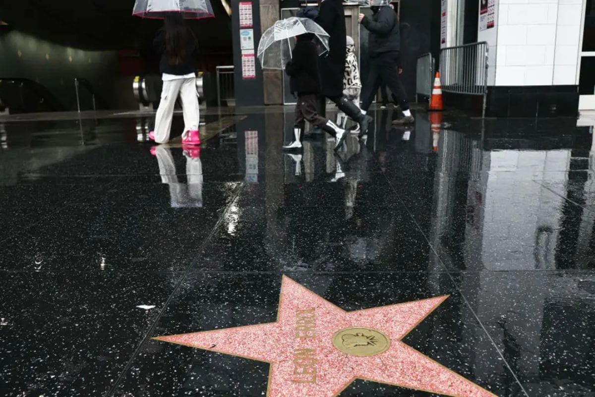
[[[184,19],[215,17],[209,0],[136,0],[132,15],[163,19],[168,12],[180,12]]]

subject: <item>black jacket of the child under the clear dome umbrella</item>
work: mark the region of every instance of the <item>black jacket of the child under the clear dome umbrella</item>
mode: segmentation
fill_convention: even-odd
[[[318,51],[312,42],[312,35],[297,37],[292,52],[292,61],[287,62],[285,72],[290,77],[292,93],[297,95],[320,93],[318,74]]]

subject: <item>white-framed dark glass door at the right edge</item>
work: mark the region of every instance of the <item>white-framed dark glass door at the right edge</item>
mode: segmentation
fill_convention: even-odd
[[[595,110],[595,0],[583,0],[583,36],[579,60],[580,110]]]

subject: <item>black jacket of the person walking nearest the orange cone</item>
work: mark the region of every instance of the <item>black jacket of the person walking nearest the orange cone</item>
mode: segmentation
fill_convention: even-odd
[[[362,25],[370,32],[368,51],[371,58],[385,52],[400,51],[401,38],[399,20],[394,10],[388,6],[372,7],[372,18],[365,17]]]

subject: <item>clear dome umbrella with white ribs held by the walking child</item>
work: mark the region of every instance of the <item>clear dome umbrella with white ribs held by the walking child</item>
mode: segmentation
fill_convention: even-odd
[[[294,37],[312,33],[318,55],[328,51],[328,33],[308,18],[291,17],[275,22],[265,30],[258,44],[258,60],[264,69],[284,69],[292,60]]]

